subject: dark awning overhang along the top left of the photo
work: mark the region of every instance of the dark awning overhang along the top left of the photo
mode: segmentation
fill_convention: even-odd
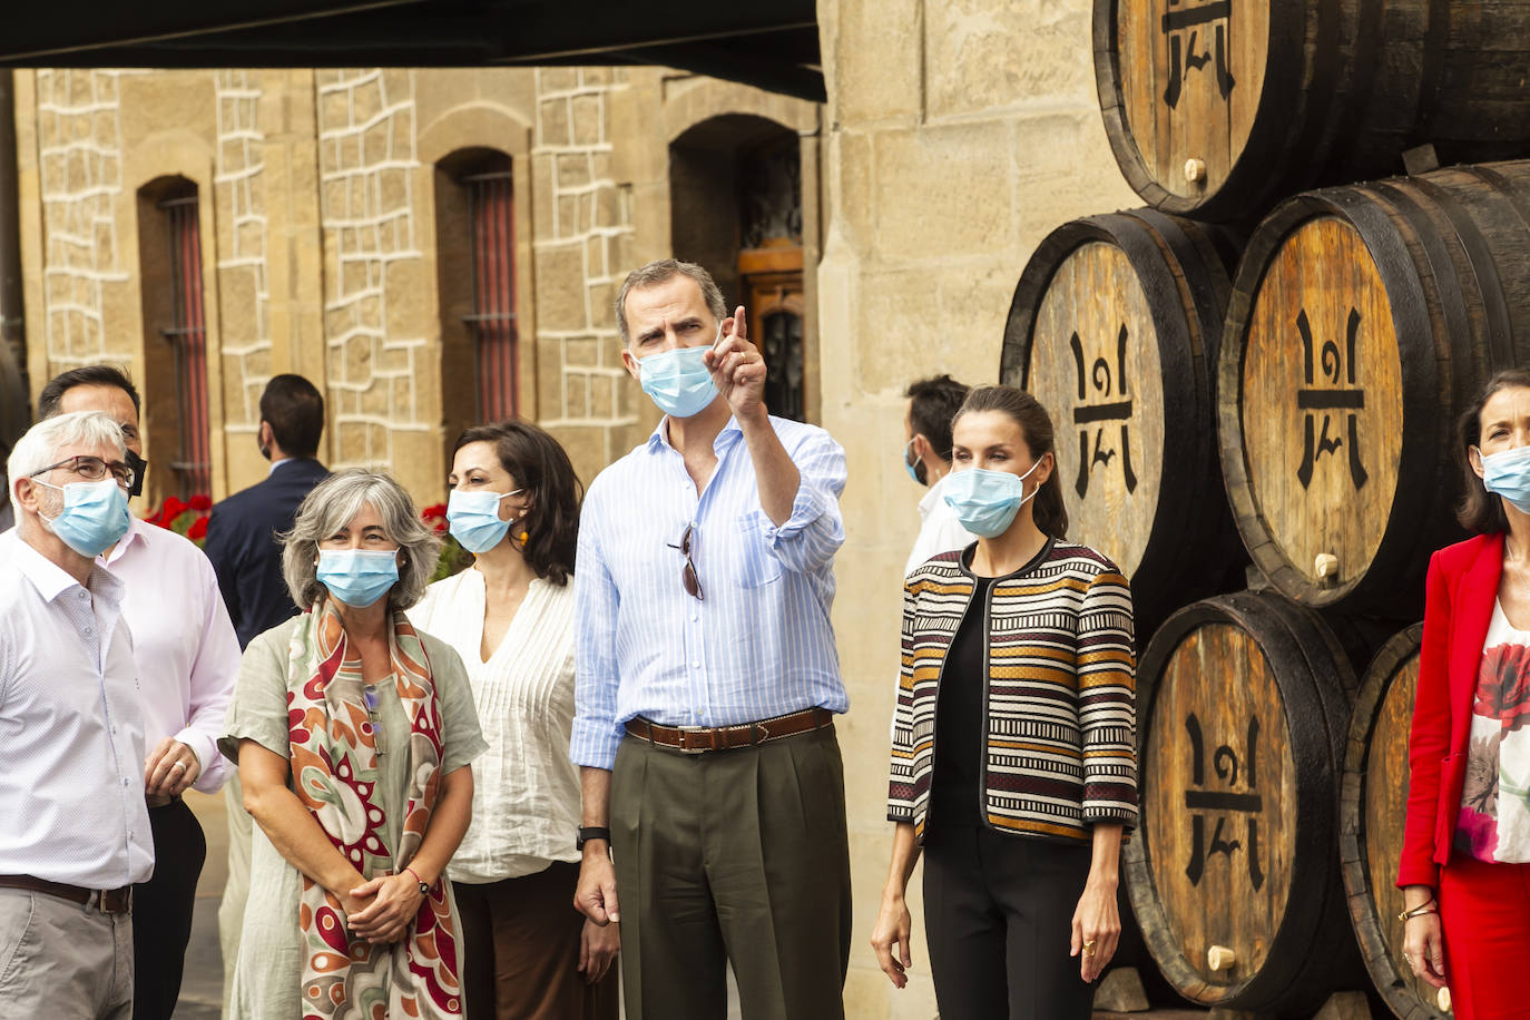
[[[662,64],[823,101],[814,0],[20,0],[11,67]]]

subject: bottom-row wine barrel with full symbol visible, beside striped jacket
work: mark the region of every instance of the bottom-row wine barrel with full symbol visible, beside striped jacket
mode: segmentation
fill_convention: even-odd
[[[1284,1017],[1365,983],[1334,824],[1353,691],[1317,613],[1274,592],[1187,606],[1148,644],[1126,882],[1186,999]]]

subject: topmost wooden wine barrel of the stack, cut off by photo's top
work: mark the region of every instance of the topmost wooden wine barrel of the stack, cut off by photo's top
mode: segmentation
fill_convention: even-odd
[[[1256,216],[1314,185],[1530,154],[1530,0],[1094,0],[1105,130],[1166,213]]]

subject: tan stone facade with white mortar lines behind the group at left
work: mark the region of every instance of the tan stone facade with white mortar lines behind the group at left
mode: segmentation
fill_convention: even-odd
[[[262,476],[260,391],[298,372],[327,401],[327,462],[389,468],[435,502],[450,442],[476,419],[462,167],[508,162],[513,405],[586,479],[656,421],[621,367],[612,306],[630,268],[672,249],[672,148],[699,144],[731,167],[779,136],[817,182],[817,106],[664,69],[44,69],[17,72],[17,113],[29,375],[41,385],[95,361],[133,373],[151,502],[197,453],[181,448],[199,419],[171,353],[188,252],[211,494]],[[165,240],[185,196],[190,248]],[[678,191],[682,229],[721,237],[715,271],[736,283],[722,249],[737,246],[739,213],[719,199],[696,208]],[[815,280],[805,287],[815,307]]]

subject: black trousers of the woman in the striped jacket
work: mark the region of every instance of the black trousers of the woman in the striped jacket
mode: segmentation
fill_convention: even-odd
[[[924,937],[941,1020],[1088,1020],[1094,985],[1068,956],[1088,844],[932,826]]]

